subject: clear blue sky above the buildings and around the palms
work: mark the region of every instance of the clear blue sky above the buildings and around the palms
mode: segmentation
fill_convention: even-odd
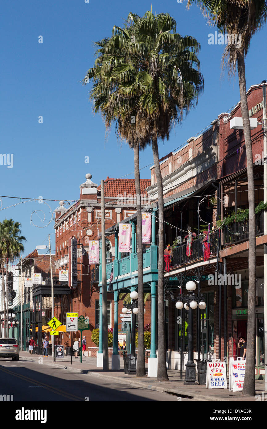
[[[150,7],[151,1],[141,0],[2,3],[0,152],[13,154],[13,168],[0,165],[2,195],[75,200],[87,172],[100,184],[107,175],[121,177],[133,171],[132,151],[117,142],[114,130],[105,139],[102,119],[93,115],[88,101],[89,86],[84,88],[79,81],[93,66],[93,42],[110,36],[112,27],[123,25],[129,12],[144,15]],[[194,36],[201,44],[199,59],[205,82],[197,108],[182,126],[176,127],[168,142],[159,142],[159,155],[163,157],[234,106],[240,95],[237,76],[228,80],[227,73],[222,75],[224,46],[208,45],[208,34],[216,29],[207,25],[198,8],[187,10],[185,2],[157,0],[153,1],[152,11],[170,13],[177,21],[177,33]],[[38,43],[39,36],[43,43]],[[247,89],[267,79],[265,39],[266,26],[252,39],[246,58]],[[42,124],[38,122],[40,115]],[[89,164],[84,163],[86,156]],[[152,162],[148,148],[140,156],[140,166]],[[141,169],[141,178],[150,178],[149,167]],[[18,202],[3,198],[2,208]],[[48,244],[48,233],[52,234],[54,249],[53,221],[45,228],[30,224],[32,212],[43,206],[26,202],[0,210],[0,220],[13,218],[21,222],[22,233],[27,237],[25,254],[38,244]],[[51,202],[52,210],[57,206]],[[49,221],[49,208],[43,210]],[[41,212],[38,215],[43,216]],[[33,215],[33,221],[39,226],[48,223],[40,219],[37,223],[37,215]]]

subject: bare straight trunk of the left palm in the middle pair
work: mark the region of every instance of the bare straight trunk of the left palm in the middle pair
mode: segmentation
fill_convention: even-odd
[[[144,287],[143,287],[143,244],[142,244],[142,216],[141,216],[141,189],[139,171],[139,147],[135,146],[135,193],[136,193],[136,235],[137,235],[137,274],[138,274],[138,366],[137,377],[146,377],[144,360]]]

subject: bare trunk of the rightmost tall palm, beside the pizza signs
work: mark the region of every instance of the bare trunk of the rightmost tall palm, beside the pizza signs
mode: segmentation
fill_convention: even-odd
[[[253,157],[249,109],[246,98],[245,58],[243,53],[237,54],[237,70],[240,89],[240,106],[243,118],[244,138],[246,144],[246,161],[248,175],[249,198],[249,293],[248,293],[248,326],[246,371],[242,396],[255,396],[255,281],[256,281],[256,230],[255,230],[255,193],[253,175]]]

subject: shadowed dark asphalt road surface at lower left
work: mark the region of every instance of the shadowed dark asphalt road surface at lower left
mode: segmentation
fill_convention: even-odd
[[[177,402],[174,395],[116,384],[92,375],[20,359],[0,359],[0,395],[13,401],[161,401]],[[190,401],[190,399],[182,399]]]

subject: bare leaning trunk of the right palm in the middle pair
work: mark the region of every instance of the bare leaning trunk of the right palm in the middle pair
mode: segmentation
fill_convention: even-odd
[[[158,280],[158,377],[157,381],[168,381],[166,367],[165,320],[164,320],[164,287],[163,287],[163,186],[159,166],[158,140],[153,141],[153,160],[156,173],[159,198],[159,280]]]

